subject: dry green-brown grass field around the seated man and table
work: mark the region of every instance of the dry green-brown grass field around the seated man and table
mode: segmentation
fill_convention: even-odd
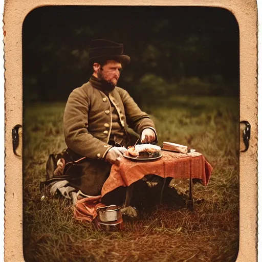
[[[49,154],[65,148],[64,104],[24,110],[24,256],[26,261],[235,261],[238,252],[238,100],[177,97],[144,107],[163,141],[189,145],[214,170],[194,186],[195,213],[155,205],[123,232],[97,232],[74,219],[67,200],[40,201]]]

